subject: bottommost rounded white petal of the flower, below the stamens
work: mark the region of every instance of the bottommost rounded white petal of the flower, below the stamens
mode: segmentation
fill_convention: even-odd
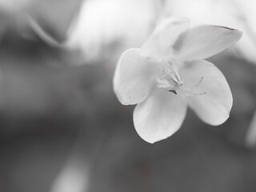
[[[174,134],[186,116],[186,102],[180,95],[155,89],[134,110],[134,126],[146,142],[154,143]]]

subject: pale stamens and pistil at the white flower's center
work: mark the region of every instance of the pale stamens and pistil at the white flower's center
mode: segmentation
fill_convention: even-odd
[[[202,80],[203,77],[201,77],[198,83],[193,87],[184,86],[178,69],[178,64],[176,62],[163,62],[157,78],[159,88],[165,89],[173,94],[183,94],[185,96],[206,94],[206,92],[194,92],[194,89],[201,84]]]

